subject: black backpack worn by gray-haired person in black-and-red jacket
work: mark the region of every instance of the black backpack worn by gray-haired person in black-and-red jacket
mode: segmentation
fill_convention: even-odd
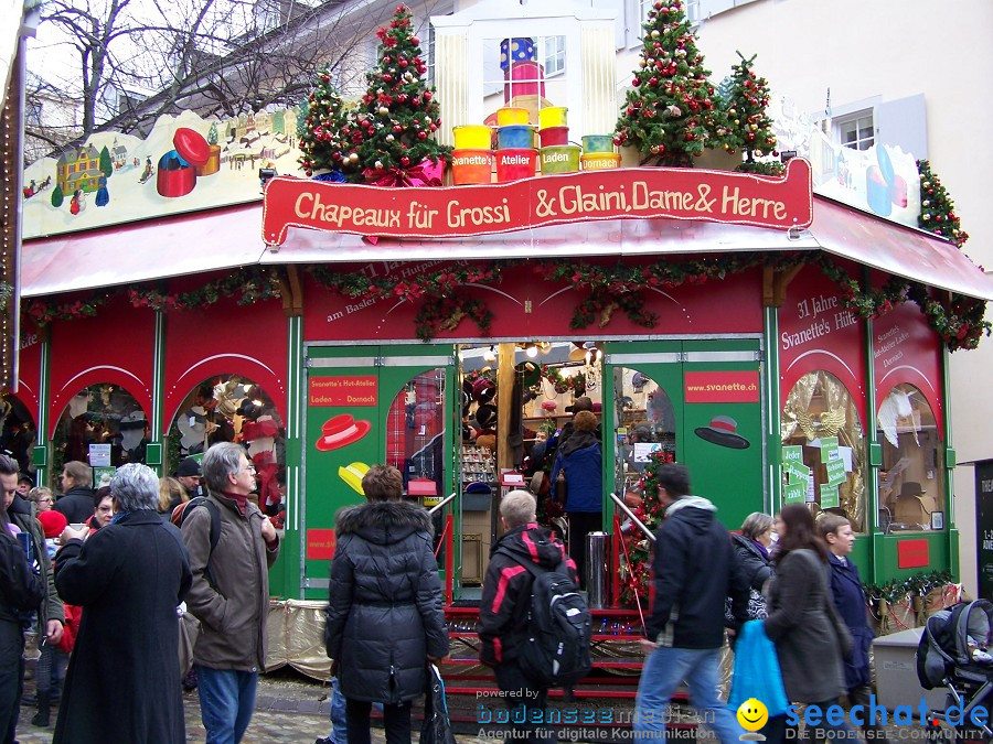
[[[534,578],[526,637],[517,657],[521,670],[542,687],[568,690],[592,668],[592,618],[586,600],[569,578],[565,561],[545,570],[505,548],[496,552],[523,565]]]

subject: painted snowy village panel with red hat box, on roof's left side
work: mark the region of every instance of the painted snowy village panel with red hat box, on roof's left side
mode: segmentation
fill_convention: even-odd
[[[297,111],[203,120],[164,116],[148,138],[93,134],[24,171],[24,237],[55,235],[261,197],[258,171],[301,174]]]

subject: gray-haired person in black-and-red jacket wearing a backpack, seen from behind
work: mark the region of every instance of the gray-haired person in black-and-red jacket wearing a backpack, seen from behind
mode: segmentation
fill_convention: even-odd
[[[535,508],[534,496],[526,490],[512,490],[500,502],[500,518],[506,531],[491,551],[479,607],[479,660],[493,668],[496,684],[511,711],[510,720],[522,721],[514,724],[514,741],[542,738],[548,688],[526,677],[517,665],[527,633],[534,578],[517,561],[499,551],[508,550],[546,570],[566,561],[573,580],[577,579],[576,564],[566,556],[565,547],[549,530],[538,527]],[[542,714],[536,715],[535,710]]]

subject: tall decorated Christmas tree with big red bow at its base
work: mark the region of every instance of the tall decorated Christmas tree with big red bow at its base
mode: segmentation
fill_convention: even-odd
[[[362,134],[357,152],[366,179],[376,183],[389,171],[424,161],[437,165],[451,152],[434,137],[441,126],[439,106],[434,86],[426,83],[420,40],[413,32],[410,10],[398,6],[389,25],[376,32],[378,63],[365,76],[369,89],[356,115]],[[440,172],[438,179],[440,185]]]

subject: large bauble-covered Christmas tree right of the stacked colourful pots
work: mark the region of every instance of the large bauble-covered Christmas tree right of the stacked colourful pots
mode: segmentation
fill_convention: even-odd
[[[642,164],[688,168],[728,134],[703,55],[681,0],[656,0],[642,24],[644,42],[613,142],[634,147]]]

